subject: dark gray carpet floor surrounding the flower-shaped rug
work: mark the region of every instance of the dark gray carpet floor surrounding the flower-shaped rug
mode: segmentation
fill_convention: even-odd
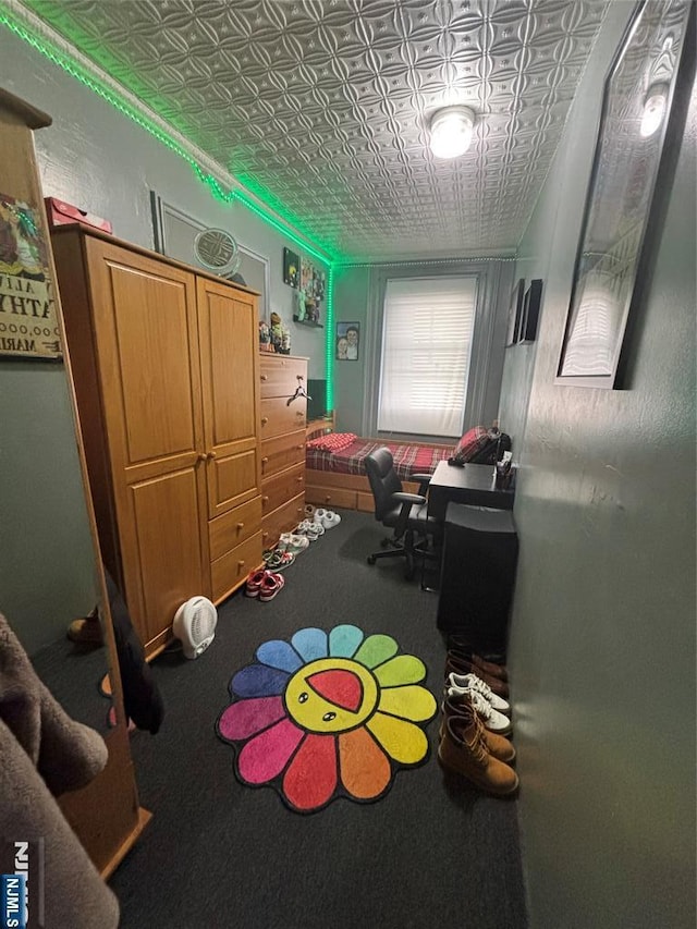
[[[232,674],[260,643],[304,626],[347,622],[393,635],[426,662],[426,685],[439,696],[437,596],[404,579],[401,559],[366,564],[380,525],[342,517],[288,569],[276,599],[230,598],[201,658],[154,662],[167,716],[158,735],[132,737],[140,802],[154,818],[111,881],[122,929],[526,926],[516,803],[443,775],[438,719],[427,763],[398,773],[383,799],[338,799],[309,816],[272,789],[240,784],[232,746],[215,733]]]

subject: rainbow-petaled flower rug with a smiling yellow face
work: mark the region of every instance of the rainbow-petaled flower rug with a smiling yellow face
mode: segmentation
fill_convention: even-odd
[[[426,665],[387,635],[354,625],[298,629],[265,641],[230,682],[234,701],[216,729],[243,784],[276,787],[297,812],[343,796],[384,796],[396,771],[428,758],[424,725],[437,711]]]

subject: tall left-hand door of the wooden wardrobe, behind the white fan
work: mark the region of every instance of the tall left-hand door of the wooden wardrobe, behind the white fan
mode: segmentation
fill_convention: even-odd
[[[146,651],[210,587],[195,278],[86,240],[125,596]]]

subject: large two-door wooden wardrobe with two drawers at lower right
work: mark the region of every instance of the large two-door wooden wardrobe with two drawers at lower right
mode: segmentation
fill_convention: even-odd
[[[52,246],[102,557],[150,657],[261,563],[257,295],[84,227]]]

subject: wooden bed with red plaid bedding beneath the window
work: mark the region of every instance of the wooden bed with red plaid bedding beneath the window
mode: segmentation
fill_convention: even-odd
[[[386,441],[384,439],[350,437],[353,433],[337,433],[333,417],[315,419],[307,424],[305,452],[305,500],[317,506],[374,512],[372,493],[363,461],[375,449],[387,445],[392,452],[394,466],[404,482],[404,489],[413,493],[418,485],[409,481],[413,474],[432,474],[439,462],[455,453],[458,447],[466,448],[467,461],[481,461],[487,448],[491,453],[491,432],[482,427],[468,430],[457,444],[441,445],[429,442]],[[332,437],[337,448],[331,448]],[[493,454],[496,457],[496,442]],[[494,459],[491,459],[493,463]]]

